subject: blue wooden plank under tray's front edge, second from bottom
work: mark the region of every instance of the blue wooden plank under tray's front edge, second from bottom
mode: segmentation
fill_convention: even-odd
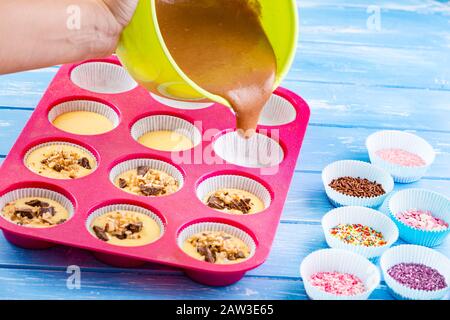
[[[400,241],[399,243],[403,243]],[[268,260],[249,276],[298,278],[301,261],[311,252],[326,248],[322,227],[317,223],[281,223]],[[46,269],[65,270],[69,265],[78,265],[95,272],[129,272],[149,275],[180,275],[176,269],[157,265],[145,265],[137,269],[111,268],[95,260],[88,252],[68,247],[48,250],[23,250],[0,237],[0,269]],[[436,248],[450,256],[450,239]],[[289,263],[286,263],[289,261]]]

